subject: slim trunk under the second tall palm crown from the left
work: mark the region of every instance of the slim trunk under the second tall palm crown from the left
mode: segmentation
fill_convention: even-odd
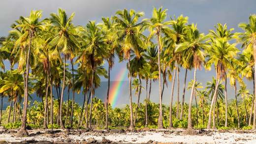
[[[62,105],[63,105],[63,96],[64,96],[64,88],[65,88],[65,77],[66,77],[66,56],[64,56],[64,71],[63,71],[63,84],[62,84],[62,94],[61,94],[61,103],[60,103],[60,125],[61,129],[65,129],[63,120],[62,120]]]

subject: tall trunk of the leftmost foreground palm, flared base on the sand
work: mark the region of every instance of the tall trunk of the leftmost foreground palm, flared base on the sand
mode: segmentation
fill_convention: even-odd
[[[21,129],[18,131],[17,136],[28,136],[27,131],[27,109],[28,109],[28,98],[29,98],[29,73],[30,73],[30,50],[32,45],[32,31],[30,31],[30,44],[26,61],[26,77],[25,77],[25,90],[24,90],[24,103],[23,103],[23,115]]]

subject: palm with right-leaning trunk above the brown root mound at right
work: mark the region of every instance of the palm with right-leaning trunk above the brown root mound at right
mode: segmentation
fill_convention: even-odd
[[[193,61],[194,67],[194,75],[193,75],[193,84],[190,96],[190,103],[189,103],[189,114],[188,114],[188,130],[192,129],[192,98],[194,94],[194,87],[196,82],[196,70],[197,68],[200,69],[202,62],[204,62],[205,54],[204,50],[208,48],[208,45],[204,43],[207,36],[204,36],[203,33],[199,33],[196,25],[192,24],[189,25],[186,29],[186,40],[185,42],[179,44],[176,48],[176,53],[188,53],[188,59]]]

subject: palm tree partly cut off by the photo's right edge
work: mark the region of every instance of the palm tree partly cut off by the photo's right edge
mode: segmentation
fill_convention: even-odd
[[[241,23],[238,25],[245,32],[242,33],[242,47],[253,48],[253,56],[256,59],[256,14],[249,17],[249,23]],[[254,72],[256,72],[256,61],[254,61]],[[254,73],[254,79],[256,81],[256,73]],[[256,89],[256,84],[254,84]],[[256,90],[254,91],[254,96],[256,97]],[[254,114],[256,114],[256,100],[254,104]],[[256,129],[256,115],[254,115],[253,129]]]

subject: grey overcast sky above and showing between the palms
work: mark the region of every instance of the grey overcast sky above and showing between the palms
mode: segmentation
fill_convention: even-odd
[[[10,25],[19,16],[28,16],[32,9],[42,10],[43,18],[49,17],[50,13],[56,13],[58,8],[63,8],[70,15],[75,12],[73,23],[75,25],[86,25],[89,20],[100,22],[101,17],[114,15],[118,9],[135,9],[145,12],[145,18],[150,18],[153,7],[168,9],[169,16],[179,16],[183,14],[189,17],[189,23],[197,23],[201,32],[208,33],[217,23],[227,23],[228,28],[234,28],[235,31],[241,31],[237,25],[241,22],[248,22],[250,14],[256,13],[256,0],[1,0],[0,3],[0,36],[6,36]],[[111,73],[111,80],[126,63],[118,63]],[[183,86],[184,71],[181,71],[181,86]],[[192,79],[192,72],[188,73],[188,80]],[[198,81],[206,84],[215,76],[214,71],[198,72]],[[128,80],[128,79],[126,79]],[[105,80],[104,80],[105,81]],[[154,84],[157,87],[157,84]],[[252,89],[252,83],[247,82],[248,88]],[[170,84],[164,91],[164,103],[169,102]],[[233,95],[233,89],[228,88],[230,97]],[[158,88],[153,90],[153,95],[157,98]],[[122,99],[128,100],[128,94]],[[186,93],[188,96],[189,93]]]

